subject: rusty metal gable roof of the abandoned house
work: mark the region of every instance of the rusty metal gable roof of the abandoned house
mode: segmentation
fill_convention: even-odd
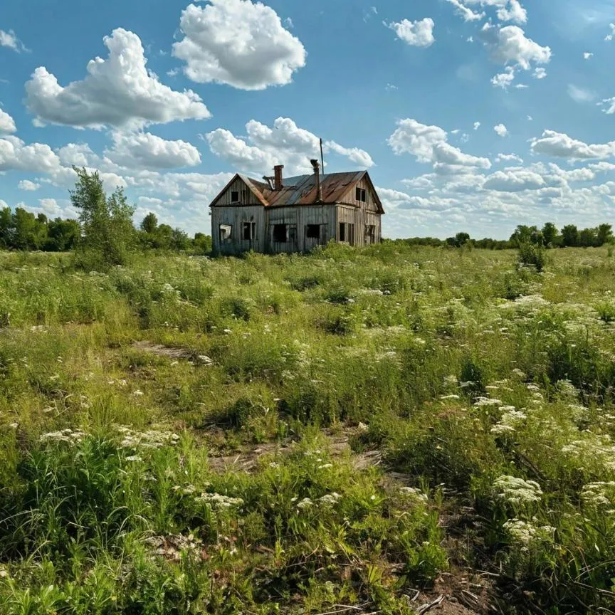
[[[258,201],[265,207],[288,207],[295,205],[315,205],[317,204],[317,186],[314,174],[297,175],[295,177],[285,177],[281,190],[272,190],[265,182],[259,182],[246,175],[236,174],[231,179],[218,196],[211,202],[210,207],[216,206],[221,196],[236,181],[241,181],[248,186]],[[322,189],[322,203],[339,203],[342,197],[352,189],[362,179],[367,179],[369,186],[375,196],[375,201],[380,214],[384,214],[382,202],[372,184],[367,171],[352,171],[347,173],[327,173],[320,176],[320,188]]]

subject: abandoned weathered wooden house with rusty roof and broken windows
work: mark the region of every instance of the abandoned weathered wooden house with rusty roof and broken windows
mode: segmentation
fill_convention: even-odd
[[[384,214],[367,171],[283,177],[263,182],[237,174],[211,203],[214,252],[308,252],[329,241],[380,243]]]

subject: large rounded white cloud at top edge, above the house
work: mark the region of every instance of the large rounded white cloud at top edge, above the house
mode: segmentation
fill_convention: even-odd
[[[173,45],[184,73],[197,83],[226,83],[242,90],[285,85],[305,66],[301,41],[278,14],[261,2],[209,0],[189,6],[179,27],[184,38]]]

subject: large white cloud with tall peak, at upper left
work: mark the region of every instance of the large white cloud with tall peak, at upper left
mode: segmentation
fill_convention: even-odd
[[[63,87],[45,67],[34,71],[26,83],[26,104],[39,121],[75,127],[141,127],[211,117],[192,90],[172,90],[147,70],[135,33],[117,28],[104,42],[109,57],[90,61],[83,81]]]

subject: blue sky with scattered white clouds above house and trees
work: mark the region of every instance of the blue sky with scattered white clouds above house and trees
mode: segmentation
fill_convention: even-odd
[[[73,215],[77,164],[209,231],[233,172],[309,172],[322,137],[389,237],[614,221],[613,24],[615,0],[4,0],[0,206]]]

